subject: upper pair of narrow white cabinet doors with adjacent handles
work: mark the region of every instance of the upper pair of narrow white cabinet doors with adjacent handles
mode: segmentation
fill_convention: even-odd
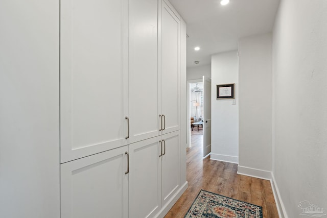
[[[180,20],[164,1],[130,1],[129,28],[133,143],[180,129]]]

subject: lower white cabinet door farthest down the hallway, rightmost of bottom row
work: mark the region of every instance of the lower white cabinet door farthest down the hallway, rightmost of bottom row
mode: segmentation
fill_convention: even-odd
[[[164,206],[180,187],[179,131],[162,135],[164,152],[161,156],[161,201]]]

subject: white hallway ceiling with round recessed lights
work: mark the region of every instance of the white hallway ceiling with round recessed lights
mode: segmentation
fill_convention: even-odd
[[[279,0],[230,0],[226,6],[220,0],[170,2],[186,22],[188,67],[210,64],[212,54],[237,50],[242,37],[271,32],[279,5]]]

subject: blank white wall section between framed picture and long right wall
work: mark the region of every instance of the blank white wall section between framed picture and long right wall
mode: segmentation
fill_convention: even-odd
[[[239,41],[238,173],[271,178],[272,35]]]

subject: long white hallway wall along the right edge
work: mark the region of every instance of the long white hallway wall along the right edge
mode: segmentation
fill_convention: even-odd
[[[327,208],[327,1],[281,1],[273,32],[273,175],[287,217]]]

